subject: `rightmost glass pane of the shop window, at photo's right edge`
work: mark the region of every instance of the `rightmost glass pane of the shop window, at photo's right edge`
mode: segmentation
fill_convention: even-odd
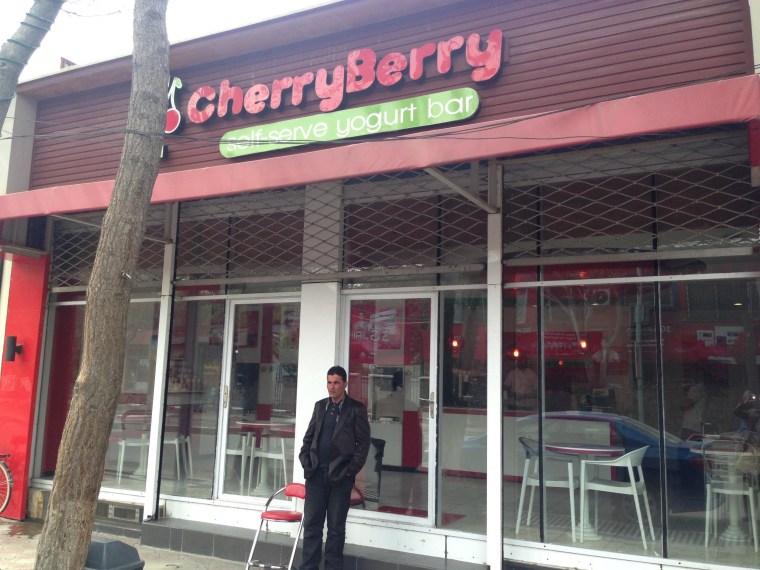
[[[683,438],[669,460],[670,556],[752,568],[760,564],[760,394],[757,280],[663,284],[665,423]],[[754,497],[754,498],[753,498]],[[707,535],[705,535],[707,532]],[[695,549],[694,536],[708,548]]]

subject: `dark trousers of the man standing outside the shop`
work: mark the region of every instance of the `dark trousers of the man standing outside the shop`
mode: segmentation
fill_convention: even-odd
[[[306,480],[303,523],[303,561],[301,570],[317,570],[322,558],[322,528],[327,512],[325,570],[343,570],[343,544],[346,542],[346,517],[351,506],[353,477],[330,483],[327,470],[318,468]]]

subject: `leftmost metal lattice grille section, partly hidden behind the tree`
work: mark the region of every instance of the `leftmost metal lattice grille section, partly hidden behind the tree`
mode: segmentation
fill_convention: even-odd
[[[53,260],[50,286],[86,287],[95,262],[95,250],[100,239],[103,212],[73,214],[53,221]],[[148,211],[145,235],[136,275],[135,286],[159,283],[163,270],[164,208],[152,207]]]

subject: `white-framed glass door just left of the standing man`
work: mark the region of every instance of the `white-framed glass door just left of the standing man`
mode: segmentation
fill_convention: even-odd
[[[300,305],[229,304],[218,493],[268,497],[292,481]]]

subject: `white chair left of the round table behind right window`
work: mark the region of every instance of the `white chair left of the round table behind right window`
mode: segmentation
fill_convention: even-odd
[[[523,504],[525,502],[525,489],[530,487],[530,499],[528,500],[528,516],[525,519],[525,526],[530,525],[531,515],[533,513],[533,496],[536,487],[541,486],[538,472],[538,442],[527,437],[520,437],[520,444],[525,452],[525,466],[523,467],[523,481],[520,487],[520,503],[517,507],[517,524],[515,526],[515,536],[520,534],[520,523],[522,520]],[[570,494],[570,530],[575,542],[575,489],[578,488],[578,479],[573,475],[574,458],[564,457],[556,453],[544,453],[544,487],[568,489]],[[567,470],[567,476],[562,472],[557,472],[556,467],[561,465]],[[551,467],[554,466],[555,469]]]

